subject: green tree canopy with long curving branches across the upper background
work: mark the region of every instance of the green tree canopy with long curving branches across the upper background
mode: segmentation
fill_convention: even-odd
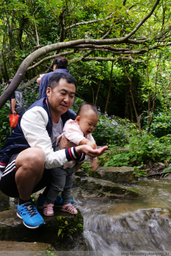
[[[15,75],[0,97],[0,108],[23,77],[30,80],[49,72],[55,56],[68,58],[70,73],[80,88],[82,83],[89,85],[92,101],[98,103],[100,93],[105,92],[105,111],[123,73],[125,94],[130,94],[137,119],[141,111],[136,113],[135,88],[140,84],[148,112],[153,112],[153,104],[161,94],[169,107],[170,2],[0,1],[0,78],[3,81]],[[89,71],[94,73],[93,78]],[[112,86],[117,72],[120,74]],[[111,84],[106,85],[106,80]],[[128,111],[126,107],[124,111]]]

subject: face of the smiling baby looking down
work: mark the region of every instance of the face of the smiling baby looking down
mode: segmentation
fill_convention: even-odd
[[[89,110],[87,113],[83,113],[79,116],[77,123],[79,124],[81,131],[84,135],[92,133],[97,125],[98,116],[93,110]]]

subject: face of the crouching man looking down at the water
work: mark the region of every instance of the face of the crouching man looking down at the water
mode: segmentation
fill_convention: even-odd
[[[75,85],[69,84],[66,79],[61,78],[59,84],[51,90],[47,88],[47,96],[50,111],[53,115],[62,115],[73,105],[75,96]]]

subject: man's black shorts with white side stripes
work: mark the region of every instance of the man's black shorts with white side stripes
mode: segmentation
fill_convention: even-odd
[[[6,165],[5,170],[0,180],[0,190],[10,197],[19,197],[17,185],[15,183],[15,159],[18,154],[13,155],[10,158],[9,163]],[[32,193],[35,193],[44,187],[50,187],[51,185],[51,172],[44,169],[42,179],[36,185]]]

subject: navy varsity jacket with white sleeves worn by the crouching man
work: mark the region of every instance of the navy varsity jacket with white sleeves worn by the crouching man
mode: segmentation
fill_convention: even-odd
[[[76,114],[68,110],[61,115],[63,126],[69,118],[75,120]],[[51,169],[60,167],[71,160],[85,161],[84,153],[78,155],[75,147],[54,152],[50,139],[52,118],[48,99],[43,98],[33,103],[20,117],[16,128],[0,151],[0,178],[12,155],[30,148],[38,147],[45,153],[44,167]]]

